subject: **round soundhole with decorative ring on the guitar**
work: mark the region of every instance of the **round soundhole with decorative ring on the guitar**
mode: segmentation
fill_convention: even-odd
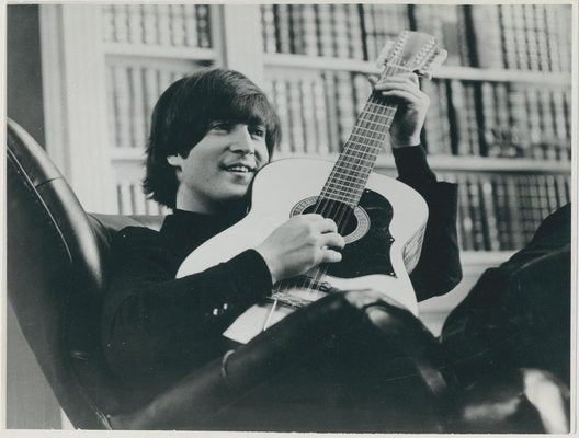
[[[344,237],[345,243],[361,239],[370,229],[370,218],[361,207],[351,208],[344,203],[331,199],[321,199],[313,196],[306,198],[292,209],[291,216],[317,212],[325,218],[333,219],[338,231]]]

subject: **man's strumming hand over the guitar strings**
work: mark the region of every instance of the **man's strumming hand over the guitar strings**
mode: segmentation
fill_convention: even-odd
[[[342,255],[344,239],[336,222],[321,215],[299,215],[277,227],[256,247],[265,261],[272,281],[295,277],[320,263],[334,263]]]

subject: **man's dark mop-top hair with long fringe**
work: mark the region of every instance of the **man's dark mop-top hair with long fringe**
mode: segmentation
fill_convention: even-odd
[[[209,69],[171,84],[151,117],[144,192],[159,204],[175,207],[179,182],[167,157],[189,155],[213,122],[262,125],[270,159],[280,142],[280,119],[265,94],[238,71]]]

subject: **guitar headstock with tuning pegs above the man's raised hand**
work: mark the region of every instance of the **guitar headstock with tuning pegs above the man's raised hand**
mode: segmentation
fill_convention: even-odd
[[[413,71],[430,79],[430,71],[444,62],[446,54],[432,35],[404,31],[396,41],[386,43],[376,64],[383,69],[382,76]]]

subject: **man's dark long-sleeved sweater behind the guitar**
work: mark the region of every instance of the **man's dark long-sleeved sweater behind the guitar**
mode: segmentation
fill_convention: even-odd
[[[420,147],[396,150],[395,159],[399,180],[416,188],[430,209],[422,255],[410,277],[421,300],[451,290],[461,279],[456,186],[436,182]],[[270,272],[254,250],[174,278],[194,249],[236,220],[175,210],[160,232],[128,227],[116,235],[103,345],[113,371],[138,391],[136,400],[223,354],[223,331],[271,292]]]

